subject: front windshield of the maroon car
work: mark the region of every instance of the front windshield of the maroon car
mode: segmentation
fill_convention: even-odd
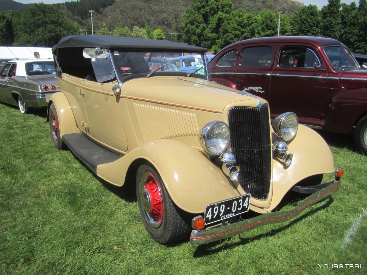
[[[324,52],[329,59],[331,65],[337,69],[341,67],[356,67],[359,65],[348,48],[339,46],[324,47]]]

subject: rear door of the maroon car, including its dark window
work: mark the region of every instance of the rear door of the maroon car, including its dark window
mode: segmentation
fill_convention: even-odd
[[[234,76],[237,89],[242,91],[248,87],[261,87],[263,92],[249,92],[269,100],[275,48],[276,43],[241,45]]]

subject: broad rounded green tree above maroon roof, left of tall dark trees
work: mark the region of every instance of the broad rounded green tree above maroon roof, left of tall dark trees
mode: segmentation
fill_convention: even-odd
[[[291,32],[299,36],[321,35],[321,11],[316,5],[303,6],[291,15]]]

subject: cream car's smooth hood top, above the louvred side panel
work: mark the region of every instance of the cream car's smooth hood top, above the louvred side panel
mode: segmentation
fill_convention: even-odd
[[[242,95],[238,90],[194,77],[132,79],[121,87],[121,96],[218,113],[222,113],[225,106],[233,102],[246,100],[240,105],[249,107],[266,102],[253,95]]]

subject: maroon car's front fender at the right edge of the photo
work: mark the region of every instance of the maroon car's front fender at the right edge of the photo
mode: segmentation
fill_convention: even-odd
[[[322,129],[350,133],[364,115],[367,115],[367,89],[344,90],[331,98]]]

